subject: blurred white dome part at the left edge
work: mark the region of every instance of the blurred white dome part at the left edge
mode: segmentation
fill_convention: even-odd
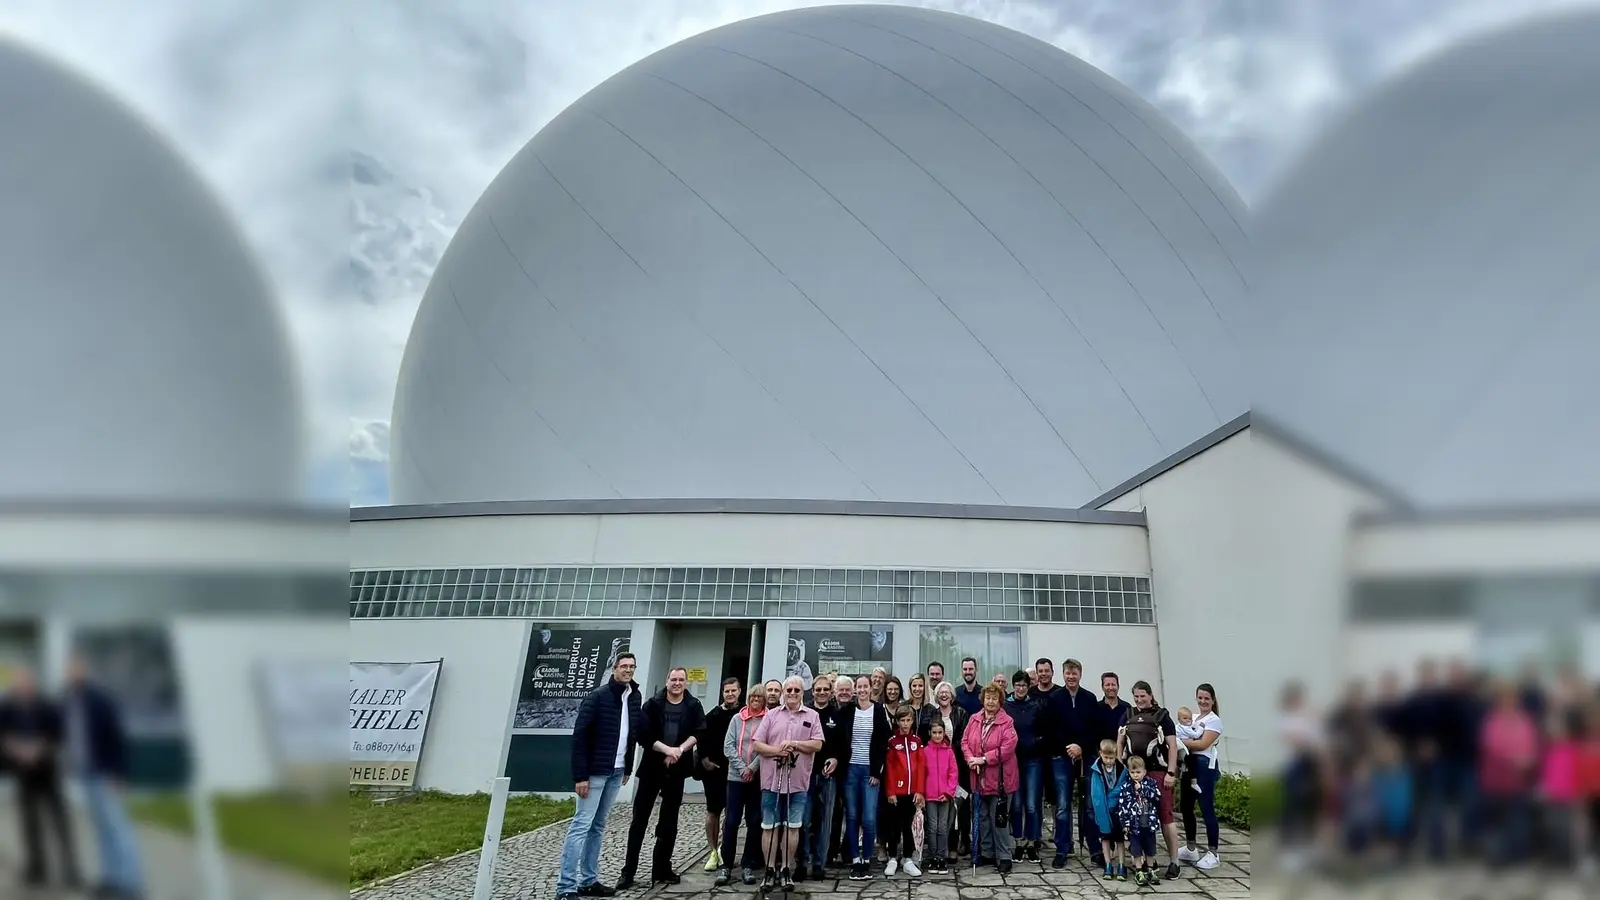
[[[298,500],[285,327],[194,171],[3,38],[0,133],[0,501]]]

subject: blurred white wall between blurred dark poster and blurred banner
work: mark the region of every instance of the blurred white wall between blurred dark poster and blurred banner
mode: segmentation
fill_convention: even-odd
[[[350,623],[293,615],[178,617],[173,655],[182,682],[195,777],[219,793],[278,786],[261,663],[346,666]],[[336,703],[338,697],[307,698]],[[334,719],[333,722],[338,722]]]

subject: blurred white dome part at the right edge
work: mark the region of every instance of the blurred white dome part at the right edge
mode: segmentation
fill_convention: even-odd
[[[1262,420],[1424,508],[1600,501],[1595,48],[1595,11],[1467,40],[1291,168],[1238,328]]]

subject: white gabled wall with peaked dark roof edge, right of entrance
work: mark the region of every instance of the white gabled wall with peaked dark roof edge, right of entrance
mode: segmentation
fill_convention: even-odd
[[[1237,767],[1270,765],[1290,679],[1325,703],[1344,671],[1350,517],[1378,503],[1246,429],[1109,509],[1144,509],[1160,629],[1162,701],[1211,682]],[[1085,660],[1086,661],[1086,660]]]

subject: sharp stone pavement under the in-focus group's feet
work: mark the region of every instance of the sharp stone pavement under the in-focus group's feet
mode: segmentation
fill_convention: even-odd
[[[678,828],[678,847],[675,868],[683,874],[683,884],[656,886],[635,889],[627,898],[674,900],[678,897],[736,897],[754,895],[754,887],[733,884],[730,887],[712,887],[712,876],[704,871],[706,847],[701,830],[702,806],[685,801]],[[618,804],[606,823],[605,849],[600,854],[600,879],[614,884],[618,871],[622,868],[622,855],[627,846],[627,826],[632,810]],[[645,854],[650,852],[650,841],[654,826],[645,841]],[[496,900],[554,900],[555,874],[560,868],[562,841],[566,838],[566,823],[555,825],[509,838],[501,842],[499,860],[494,870]],[[1224,830],[1222,865],[1210,873],[1194,866],[1184,866],[1184,876],[1176,881],[1163,881],[1155,889],[1144,889],[1144,894],[1173,895],[1189,900],[1246,900],[1250,897],[1250,836]],[[643,860],[648,870],[648,858]],[[478,857],[466,854],[429,868],[422,868],[373,889],[352,895],[350,900],[470,900],[472,886],[477,879]],[[1120,894],[1134,894],[1138,886],[1130,882],[1106,884],[1099,873],[1090,871],[1086,860],[1074,860],[1064,870],[1053,870],[1050,863],[1016,863],[1008,876],[995,874],[992,868],[979,871],[976,876],[970,868],[954,871],[947,876],[923,874],[917,879],[896,876],[885,879],[882,874],[872,881],[827,879],[822,882],[806,881],[797,886],[795,897],[806,900],[878,900],[891,897],[926,898],[926,900],[1109,900]]]

